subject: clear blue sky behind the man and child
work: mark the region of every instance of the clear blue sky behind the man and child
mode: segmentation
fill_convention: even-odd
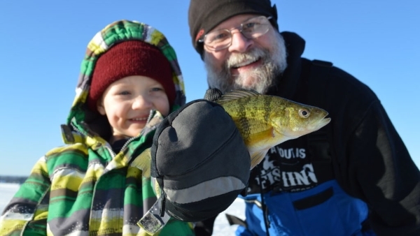
[[[29,175],[62,145],[89,40],[116,20],[150,24],[176,50],[187,101],[205,71],[190,43],[187,0],[0,1],[0,175]],[[306,40],[304,57],[332,61],[367,84],[420,166],[420,1],[274,0],[281,31]]]

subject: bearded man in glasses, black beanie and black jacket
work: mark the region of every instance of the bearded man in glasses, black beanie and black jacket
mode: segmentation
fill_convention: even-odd
[[[374,92],[302,57],[269,0],[191,0],[210,89],[254,89],[323,108],[330,124],[269,150],[251,171],[237,235],[420,235],[420,172]],[[211,235],[214,218],[197,223]]]

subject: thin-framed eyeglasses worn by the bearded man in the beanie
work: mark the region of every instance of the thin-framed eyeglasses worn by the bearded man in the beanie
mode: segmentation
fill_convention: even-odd
[[[269,30],[269,19],[272,17],[265,17],[263,15],[252,17],[243,22],[239,27],[241,34],[248,39],[258,38]],[[234,29],[218,29],[209,32],[204,38],[198,40],[204,43],[208,50],[218,51],[229,47],[232,44],[232,30]]]

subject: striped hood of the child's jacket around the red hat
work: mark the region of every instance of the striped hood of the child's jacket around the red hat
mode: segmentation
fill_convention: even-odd
[[[176,98],[171,110],[176,110],[186,103],[185,88],[181,69],[176,59],[176,53],[167,38],[157,29],[136,21],[119,20],[107,25],[104,29],[94,35],[87,45],[85,58],[80,67],[80,75],[76,87],[76,97],[71,105],[70,114],[67,117],[66,125],[62,126],[64,142],[69,143],[74,140],[69,132],[74,131],[83,135],[95,136],[92,131],[104,137],[95,129],[95,126],[104,127],[104,116],[97,112],[92,112],[87,107],[87,95],[90,89],[92,74],[97,63],[97,59],[107,52],[113,45],[127,40],[141,40],[150,43],[162,52],[172,66],[173,81],[175,84]],[[107,124],[108,121],[105,121]],[[107,124],[109,125],[109,124]],[[64,127],[66,126],[66,127]]]

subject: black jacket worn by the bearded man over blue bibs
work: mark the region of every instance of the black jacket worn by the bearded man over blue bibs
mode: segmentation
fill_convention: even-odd
[[[286,41],[288,68],[269,94],[330,113],[332,120],[324,128],[332,175],[350,196],[367,202],[375,233],[420,235],[420,172],[377,96],[334,66],[326,78],[311,77],[311,61],[301,57],[304,40],[294,33],[281,34]],[[314,86],[316,83],[321,86]],[[302,141],[305,139],[303,136],[279,146],[287,150],[307,142]],[[255,172],[258,168],[253,170],[254,176]]]

